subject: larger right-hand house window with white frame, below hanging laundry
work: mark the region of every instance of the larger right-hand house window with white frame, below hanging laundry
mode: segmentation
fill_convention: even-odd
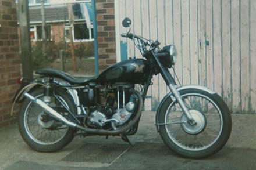
[[[86,23],[75,23],[72,27],[73,41],[93,41],[93,28],[87,28]],[[69,26],[65,26],[65,38],[69,41]]]

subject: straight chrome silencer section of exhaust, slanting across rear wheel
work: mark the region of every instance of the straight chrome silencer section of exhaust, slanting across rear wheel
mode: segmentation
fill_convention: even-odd
[[[42,107],[47,113],[49,113],[52,117],[56,118],[56,120],[59,120],[61,122],[64,122],[67,126],[70,126],[72,128],[77,128],[77,124],[74,124],[73,122],[70,122],[65,117],[63,117],[61,114],[56,112],[54,109],[49,107],[46,103],[42,102],[40,99],[36,99],[35,97],[31,96],[29,93],[25,93],[24,96],[27,99],[32,100],[32,102],[38,104],[38,106]]]

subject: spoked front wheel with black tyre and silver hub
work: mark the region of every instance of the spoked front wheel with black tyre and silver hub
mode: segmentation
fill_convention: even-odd
[[[186,158],[205,158],[221,150],[232,129],[226,103],[216,93],[200,89],[184,89],[180,95],[197,124],[190,125],[182,108],[169,97],[159,110],[163,142]]]

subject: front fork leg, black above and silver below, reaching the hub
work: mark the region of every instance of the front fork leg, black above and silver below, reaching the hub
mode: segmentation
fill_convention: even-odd
[[[167,70],[167,68],[162,66],[162,63],[160,62],[158,56],[155,55],[154,52],[153,52],[153,55],[154,55],[155,61],[158,63],[159,72],[161,73],[161,75],[162,75],[163,79],[165,80],[166,84],[168,85],[168,88],[172,92],[172,95],[175,97],[175,99],[179,103],[180,108],[182,108],[182,110],[184,111],[189,124],[191,126],[197,124],[197,122],[195,122],[194,118],[191,116],[189,109],[184,104],[184,101],[182,100],[182,97],[180,96],[179,91],[177,91],[176,82],[173,79],[172,75],[170,74],[169,70]]]

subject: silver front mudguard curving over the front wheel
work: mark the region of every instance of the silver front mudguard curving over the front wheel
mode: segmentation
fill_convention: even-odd
[[[212,91],[211,89],[205,87],[205,86],[200,86],[200,85],[184,85],[184,86],[180,86],[177,88],[177,91],[182,91],[184,89],[200,89],[201,91],[205,91],[207,93],[210,93],[212,95],[214,95],[216,92]],[[163,97],[161,103],[159,104],[158,108],[157,108],[157,114],[155,115],[155,123],[157,126],[157,131],[159,132],[159,126],[157,124],[159,124],[159,110],[161,110],[162,104],[165,102],[165,100],[167,100],[169,97],[173,97],[172,92],[169,92],[167,95],[165,95],[165,97]]]

